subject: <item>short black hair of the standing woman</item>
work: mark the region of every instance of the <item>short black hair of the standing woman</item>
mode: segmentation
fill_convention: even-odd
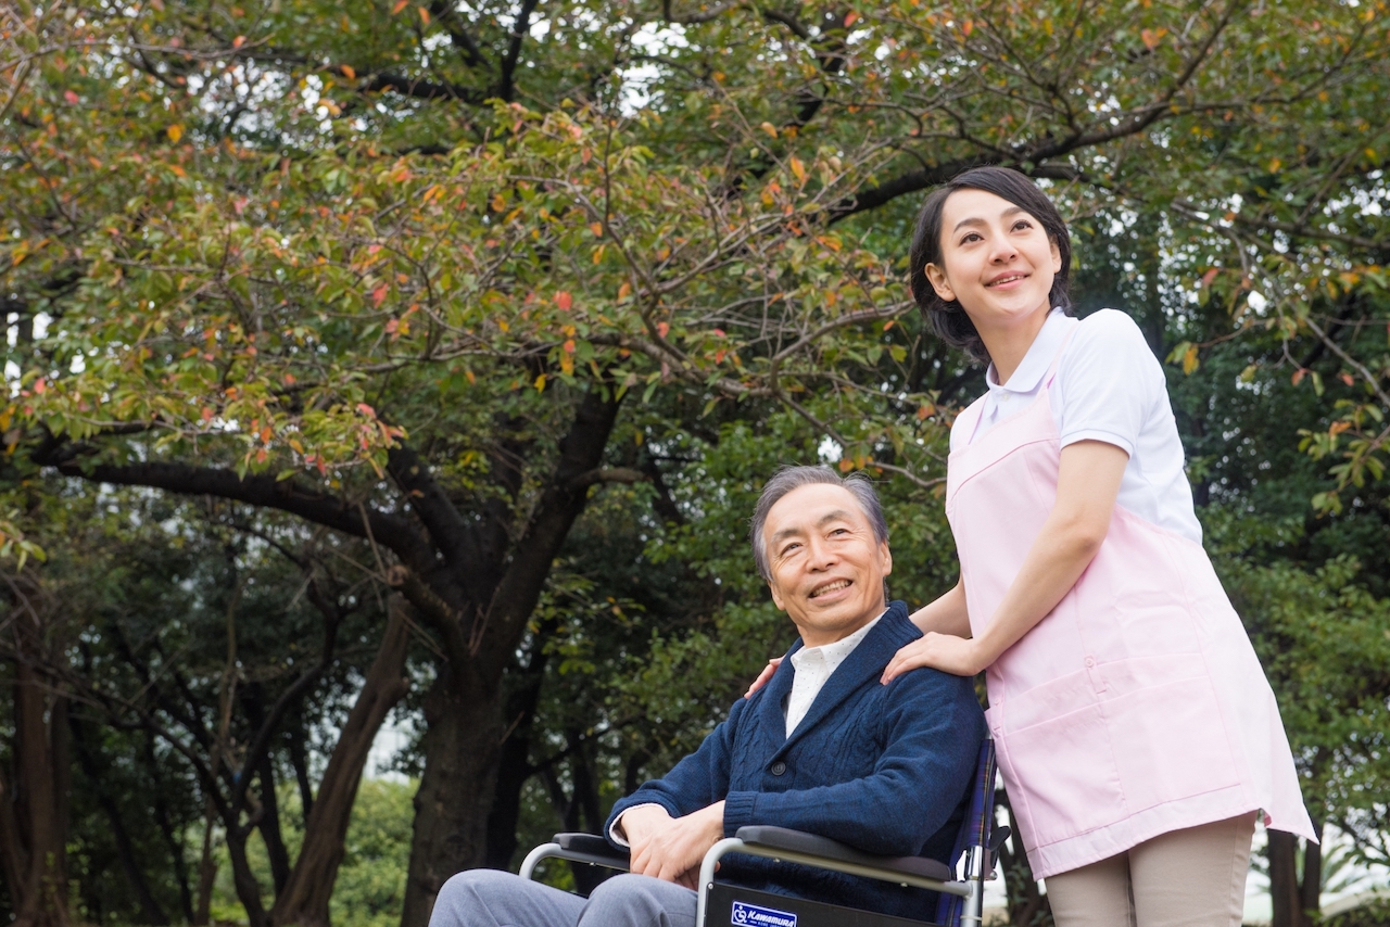
[[[974,329],[974,322],[965,314],[960,303],[945,302],[937,296],[937,290],[927,279],[927,264],[941,265],[941,211],[947,197],[956,190],[984,190],[994,193],[1015,206],[1027,210],[1033,218],[1042,224],[1047,236],[1056,245],[1062,256],[1062,270],[1052,279],[1052,306],[1061,306],[1062,311],[1072,313],[1072,300],[1068,296],[1068,281],[1072,277],[1072,240],[1066,232],[1066,222],[1062,214],[1052,206],[1052,200],[1040,190],[1027,175],[1006,167],[976,167],[956,174],[954,178],[938,186],[927,196],[917,215],[917,231],[912,236],[912,271],[909,282],[912,285],[912,299],[922,310],[926,321],[931,322],[937,336],[952,347],[965,350],[970,357],[981,364],[990,363],[990,352]]]

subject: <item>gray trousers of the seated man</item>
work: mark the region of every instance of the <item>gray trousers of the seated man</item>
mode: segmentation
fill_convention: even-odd
[[[624,873],[584,899],[512,873],[471,869],[439,889],[430,927],[695,927],[695,892]]]

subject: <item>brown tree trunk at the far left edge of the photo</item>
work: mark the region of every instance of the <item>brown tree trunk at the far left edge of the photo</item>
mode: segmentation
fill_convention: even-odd
[[[25,637],[15,618],[17,638]],[[54,695],[19,643],[14,684],[14,782],[0,778],[0,869],[13,927],[67,927],[67,698]]]

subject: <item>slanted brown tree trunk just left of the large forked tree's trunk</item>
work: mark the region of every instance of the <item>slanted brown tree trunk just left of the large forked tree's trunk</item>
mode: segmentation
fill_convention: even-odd
[[[271,923],[328,927],[328,901],[343,862],[348,824],[357,798],[361,771],[386,714],[409,689],[404,678],[410,628],[400,596],[392,596],[386,632],[367,681],[357,694],[328,769],[318,784],[318,796],[304,824],[304,842],[285,889],[271,909]]]

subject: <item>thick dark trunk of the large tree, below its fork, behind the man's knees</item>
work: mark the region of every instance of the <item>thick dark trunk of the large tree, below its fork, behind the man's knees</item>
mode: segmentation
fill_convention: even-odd
[[[425,927],[445,880],[477,866],[486,852],[503,731],[500,694],[471,674],[456,680],[452,673],[425,698],[427,759],[414,802],[402,927]]]

